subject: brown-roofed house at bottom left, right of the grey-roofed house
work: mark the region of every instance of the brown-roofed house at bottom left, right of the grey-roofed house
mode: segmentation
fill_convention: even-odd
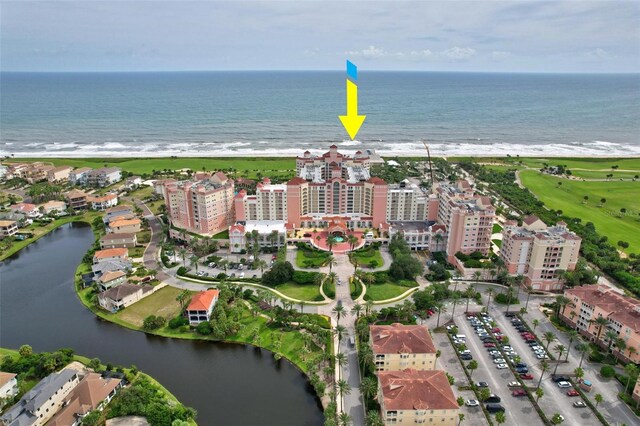
[[[47,426],[79,426],[91,411],[102,411],[123,386],[122,379],[103,378],[89,373],[65,398],[60,411]]]

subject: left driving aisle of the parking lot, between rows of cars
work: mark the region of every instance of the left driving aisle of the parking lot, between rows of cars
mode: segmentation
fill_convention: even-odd
[[[465,345],[471,351],[473,359],[478,362],[478,369],[473,372],[472,379],[476,383],[486,382],[491,393],[500,397],[500,405],[505,408],[506,424],[543,425],[542,419],[526,396],[515,397],[511,395],[515,388],[509,388],[507,385],[516,380],[513,373],[509,368],[496,368],[496,364],[489,354],[490,348],[484,346],[464,313],[456,318],[456,324],[458,334],[466,336]],[[500,326],[498,325],[498,327]],[[526,421],[523,422],[523,419]]]

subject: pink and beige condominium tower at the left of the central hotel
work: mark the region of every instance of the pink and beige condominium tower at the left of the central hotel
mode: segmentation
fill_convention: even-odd
[[[233,225],[234,186],[224,173],[196,181],[166,181],[163,188],[173,226],[214,235]]]

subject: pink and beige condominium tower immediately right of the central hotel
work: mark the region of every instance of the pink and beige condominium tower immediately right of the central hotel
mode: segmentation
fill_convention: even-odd
[[[436,187],[438,196],[438,223],[449,232],[446,252],[450,262],[455,254],[471,254],[479,251],[489,254],[495,208],[491,199],[475,193],[469,182],[459,180]]]

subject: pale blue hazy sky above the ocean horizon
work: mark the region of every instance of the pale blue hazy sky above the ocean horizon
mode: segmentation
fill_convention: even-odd
[[[640,72],[638,1],[0,2],[3,71]]]

